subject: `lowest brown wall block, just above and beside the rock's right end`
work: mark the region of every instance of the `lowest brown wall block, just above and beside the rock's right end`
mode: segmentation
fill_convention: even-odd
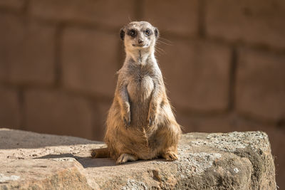
[[[263,131],[268,134],[271,151],[276,166],[276,183],[284,186],[285,177],[285,134],[274,124],[264,124],[244,119],[237,114],[227,115],[187,115],[177,111],[177,122],[182,125],[184,132],[230,132],[230,131]]]

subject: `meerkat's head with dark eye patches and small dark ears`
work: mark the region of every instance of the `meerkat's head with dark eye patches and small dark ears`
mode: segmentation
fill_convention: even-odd
[[[146,21],[131,22],[120,30],[126,51],[147,50],[155,46],[159,37],[157,28]]]

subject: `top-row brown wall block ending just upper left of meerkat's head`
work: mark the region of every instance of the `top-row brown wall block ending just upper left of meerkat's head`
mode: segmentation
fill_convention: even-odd
[[[135,19],[132,0],[33,0],[31,14],[54,21],[83,21],[121,27]]]

